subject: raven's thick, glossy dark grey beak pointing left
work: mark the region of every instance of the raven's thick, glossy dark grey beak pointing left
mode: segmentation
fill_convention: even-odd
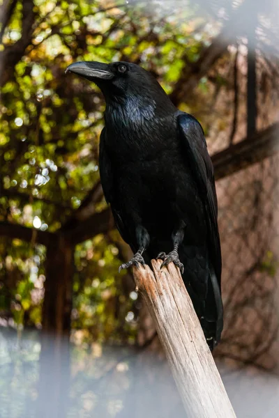
[[[77,63],[70,64],[65,73],[74,72],[86,79],[112,79],[114,73],[110,70],[108,64],[98,63],[97,61],[77,61]]]

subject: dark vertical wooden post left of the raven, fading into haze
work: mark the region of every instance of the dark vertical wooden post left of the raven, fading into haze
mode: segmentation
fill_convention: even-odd
[[[70,313],[74,246],[59,234],[47,247],[37,415],[66,417],[70,382]]]

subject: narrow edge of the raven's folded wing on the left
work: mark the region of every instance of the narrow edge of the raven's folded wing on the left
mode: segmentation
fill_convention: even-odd
[[[116,224],[116,228],[119,230],[121,237],[124,241],[126,241],[132,248],[134,247],[130,242],[130,237],[128,234],[127,229],[125,228],[123,221],[121,219],[121,215],[119,213],[118,205],[117,205],[117,196],[115,193],[116,187],[114,185],[114,169],[112,167],[112,162],[110,160],[109,155],[105,149],[105,141],[106,141],[106,130],[105,127],[103,128],[100,134],[100,151],[99,151],[99,169],[100,169],[100,183],[103,187],[103,192],[105,196],[105,200],[107,203],[110,203],[110,207],[112,209],[112,215],[114,216],[114,222]]]

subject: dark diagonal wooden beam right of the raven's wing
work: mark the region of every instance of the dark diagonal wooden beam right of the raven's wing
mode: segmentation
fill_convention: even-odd
[[[212,155],[216,180],[230,176],[279,151],[279,123]]]

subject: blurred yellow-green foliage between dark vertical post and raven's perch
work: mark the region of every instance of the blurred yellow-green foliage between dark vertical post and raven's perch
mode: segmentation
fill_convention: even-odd
[[[123,273],[116,275],[118,252],[103,235],[76,247],[73,327],[88,331],[85,341],[133,341],[137,324],[127,314],[134,310],[135,292],[133,300],[123,289]]]

